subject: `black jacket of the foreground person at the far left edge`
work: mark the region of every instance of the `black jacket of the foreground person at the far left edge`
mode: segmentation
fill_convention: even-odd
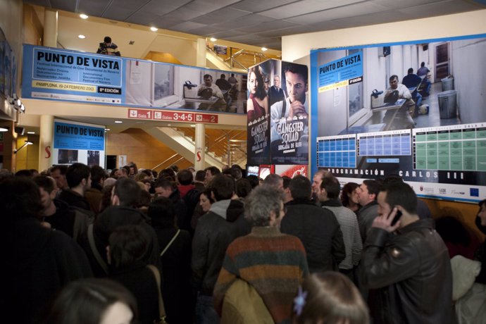
[[[5,323],[32,323],[59,289],[92,276],[85,252],[64,232],[44,228],[35,218],[19,219],[7,230],[0,261]]]

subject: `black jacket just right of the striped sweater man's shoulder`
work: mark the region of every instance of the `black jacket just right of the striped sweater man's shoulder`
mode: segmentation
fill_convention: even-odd
[[[346,257],[346,249],[334,213],[316,206],[311,199],[294,199],[285,206],[287,213],[280,231],[299,237],[304,244],[309,272],[337,270]]]

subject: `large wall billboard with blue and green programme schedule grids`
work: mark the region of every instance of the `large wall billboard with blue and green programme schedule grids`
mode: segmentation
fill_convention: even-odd
[[[486,197],[486,35],[311,51],[311,168]]]

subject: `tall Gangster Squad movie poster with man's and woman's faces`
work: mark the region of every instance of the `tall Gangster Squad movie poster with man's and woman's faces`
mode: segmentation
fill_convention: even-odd
[[[307,66],[276,60],[249,68],[249,165],[309,163],[308,74]]]

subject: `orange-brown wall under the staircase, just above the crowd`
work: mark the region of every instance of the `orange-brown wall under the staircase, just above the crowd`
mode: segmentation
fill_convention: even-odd
[[[177,154],[177,152],[139,128],[130,128],[124,132],[108,134],[106,137],[106,155],[126,155],[127,162],[137,163],[138,168],[154,168],[174,154]],[[178,158],[180,157],[182,156]],[[177,159],[170,160],[169,165],[174,164]],[[182,158],[181,161],[175,164],[180,169],[184,169],[192,166],[194,161],[187,161],[185,158]],[[117,167],[119,168],[120,166]],[[156,168],[156,170],[160,171],[162,168],[167,167],[161,166]]]

